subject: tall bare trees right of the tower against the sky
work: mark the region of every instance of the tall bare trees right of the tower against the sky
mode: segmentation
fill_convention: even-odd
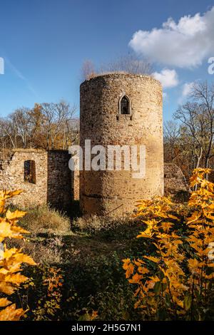
[[[194,168],[214,168],[214,84],[195,83],[188,98],[164,125],[165,162],[186,177]]]

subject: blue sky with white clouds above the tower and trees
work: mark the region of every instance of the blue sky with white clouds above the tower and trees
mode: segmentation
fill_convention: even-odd
[[[214,81],[208,74],[213,6],[211,0],[1,0],[0,116],[61,98],[78,106],[83,61],[100,66],[133,51],[153,61],[170,119],[193,81]]]

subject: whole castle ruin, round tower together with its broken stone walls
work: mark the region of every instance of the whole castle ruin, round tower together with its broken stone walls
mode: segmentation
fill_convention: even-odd
[[[0,153],[0,190],[24,192],[12,200],[19,207],[49,204],[69,210],[80,200],[83,214],[122,217],[136,201],[188,190],[176,165],[164,165],[162,87],[150,76],[109,73],[81,84],[81,138],[94,145],[145,145],[146,175],[132,170],[71,171],[67,150],[16,149]],[[93,155],[92,155],[93,156]],[[83,155],[84,157],[84,155]],[[93,157],[92,157],[93,158]],[[124,163],[123,155],[121,155]],[[83,161],[83,165],[84,165]],[[108,163],[108,162],[107,162]],[[175,192],[174,192],[175,191]]]

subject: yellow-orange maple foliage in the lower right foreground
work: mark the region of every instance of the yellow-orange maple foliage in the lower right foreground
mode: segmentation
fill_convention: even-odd
[[[136,284],[136,308],[145,319],[201,320],[208,310],[209,287],[214,278],[210,243],[214,241],[214,184],[205,179],[210,169],[195,169],[190,186],[195,190],[180,232],[182,210],[167,197],[141,200],[137,217],[146,230],[139,237],[151,239],[153,254],[141,259],[123,259],[123,269],[131,284]],[[183,213],[182,213],[183,214]],[[180,222],[180,223],[179,223]]]

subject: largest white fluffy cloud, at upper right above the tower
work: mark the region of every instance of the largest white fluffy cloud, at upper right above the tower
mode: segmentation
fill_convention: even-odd
[[[129,45],[151,61],[166,66],[192,68],[214,53],[214,7],[205,14],[183,16],[178,24],[173,19],[161,29],[136,31]]]

